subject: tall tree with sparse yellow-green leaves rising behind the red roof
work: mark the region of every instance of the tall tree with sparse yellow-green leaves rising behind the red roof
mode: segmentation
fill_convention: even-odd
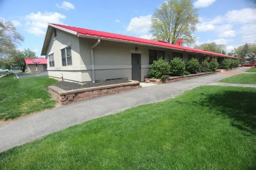
[[[192,44],[198,22],[198,9],[193,7],[192,0],[168,0],[155,9],[151,33],[154,40],[175,44],[182,39],[185,44]]]

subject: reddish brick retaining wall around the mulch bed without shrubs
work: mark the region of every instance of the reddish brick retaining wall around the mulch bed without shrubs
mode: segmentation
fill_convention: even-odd
[[[116,94],[132,89],[140,88],[140,82],[130,81],[129,83],[111,84],[106,86],[88,87],[83,89],[63,90],[56,86],[49,86],[48,91],[60,101],[61,105],[89,100],[109,94]]]

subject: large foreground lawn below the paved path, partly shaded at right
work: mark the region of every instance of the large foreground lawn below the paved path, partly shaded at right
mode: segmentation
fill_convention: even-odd
[[[0,153],[0,169],[253,170],[253,103],[254,88],[198,87]]]

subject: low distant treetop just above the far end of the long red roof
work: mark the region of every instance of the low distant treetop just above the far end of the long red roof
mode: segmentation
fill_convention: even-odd
[[[226,54],[227,46],[225,44],[216,44],[215,42],[211,42],[211,43],[204,43],[201,45],[195,45],[194,48],[212,51],[220,54]]]

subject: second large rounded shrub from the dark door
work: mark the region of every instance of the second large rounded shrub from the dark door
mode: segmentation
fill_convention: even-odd
[[[183,75],[185,71],[185,63],[180,58],[174,58],[170,61],[170,67],[171,67],[171,75],[172,76],[181,76]]]

